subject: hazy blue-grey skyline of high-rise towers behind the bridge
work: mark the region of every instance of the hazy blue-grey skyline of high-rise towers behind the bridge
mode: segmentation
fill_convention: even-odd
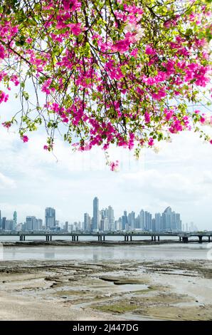
[[[83,231],[116,231],[116,230],[143,230],[153,232],[179,232],[197,231],[194,222],[182,224],[180,213],[166,207],[162,213],[154,215],[144,209],[138,213],[124,210],[120,217],[115,216],[115,211],[111,205],[100,209],[99,199],[95,197],[92,201],[92,216],[88,212],[83,215],[83,221],[60,222],[56,220],[56,211],[53,207],[46,207],[44,220],[35,216],[26,216],[24,222],[18,222],[17,212],[14,211],[14,219],[8,219],[1,215],[0,210],[0,230],[83,230]]]

